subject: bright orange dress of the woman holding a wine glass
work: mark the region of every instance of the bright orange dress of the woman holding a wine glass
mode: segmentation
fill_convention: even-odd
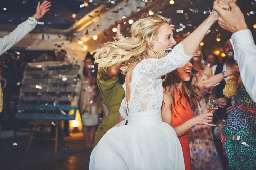
[[[180,88],[180,90],[181,90],[181,88]],[[179,98],[180,98],[180,95],[175,90],[174,99],[175,99],[176,110],[173,107],[173,109],[172,109],[173,112],[171,115],[171,117],[172,117],[171,126],[173,128],[183,124],[184,122],[186,122],[192,118],[192,110],[191,110],[190,104],[189,104],[188,100],[185,98],[185,96],[183,95],[183,92],[182,92],[181,103],[185,107],[185,109],[180,105],[180,102],[177,102],[177,101],[179,101]],[[183,152],[185,169],[191,170],[188,132],[186,132],[184,135],[180,136],[179,140],[180,140],[181,148],[182,148],[182,152]]]

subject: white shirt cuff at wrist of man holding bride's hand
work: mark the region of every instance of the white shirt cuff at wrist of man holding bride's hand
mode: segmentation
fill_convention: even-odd
[[[249,29],[244,29],[235,32],[231,39],[233,40],[233,45],[235,45],[235,49],[237,50],[241,45],[250,45],[254,44],[252,32]]]

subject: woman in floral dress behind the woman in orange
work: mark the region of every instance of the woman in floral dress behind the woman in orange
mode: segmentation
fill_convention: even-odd
[[[202,47],[199,46],[193,56],[193,68],[198,71],[196,74],[198,82],[202,82],[212,76],[211,67],[202,64],[202,59]],[[201,100],[198,101],[198,107],[193,110],[193,117],[207,113],[206,103],[208,102],[208,98],[214,97],[212,93],[209,93],[208,89],[196,93],[201,97]],[[195,125],[191,127],[188,138],[192,169],[222,170],[222,164],[216,151],[211,126]]]

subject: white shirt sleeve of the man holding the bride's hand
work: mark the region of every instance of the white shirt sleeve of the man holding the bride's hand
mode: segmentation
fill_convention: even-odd
[[[238,63],[240,75],[246,91],[256,102],[256,46],[249,29],[240,30],[231,36],[235,46],[234,59]]]

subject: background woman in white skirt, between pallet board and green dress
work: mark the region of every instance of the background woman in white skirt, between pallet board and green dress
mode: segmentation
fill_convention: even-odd
[[[102,111],[102,100],[100,93],[95,91],[97,71],[93,65],[93,58],[86,57],[84,61],[82,90],[80,93],[79,110],[83,124],[83,134],[86,148],[92,148],[95,132]],[[93,102],[93,103],[91,103]]]

